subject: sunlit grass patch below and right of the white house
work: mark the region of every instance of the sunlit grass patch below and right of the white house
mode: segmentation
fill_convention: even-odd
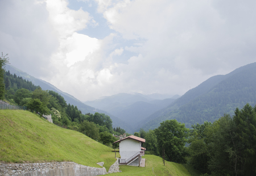
[[[113,175],[172,175],[172,176],[189,176],[191,174],[183,167],[183,165],[175,162],[166,161],[166,166],[163,165],[163,159],[154,155],[147,155],[146,167],[134,166],[120,166],[121,173],[114,173]],[[153,171],[153,169],[154,171]]]

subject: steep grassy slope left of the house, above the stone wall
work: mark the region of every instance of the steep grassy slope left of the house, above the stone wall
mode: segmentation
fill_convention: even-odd
[[[80,132],[57,127],[38,115],[22,110],[0,110],[0,162],[73,161],[109,167],[112,149]]]

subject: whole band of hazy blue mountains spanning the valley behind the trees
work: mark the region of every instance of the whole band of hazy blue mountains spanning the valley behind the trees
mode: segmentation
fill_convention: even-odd
[[[224,114],[233,115],[234,110],[246,103],[256,104],[256,62],[242,66],[226,75],[213,76],[183,96],[151,94],[116,94],[97,100],[80,102],[72,95],[63,93],[55,86],[29,76],[10,65],[6,70],[39,85],[43,90],[53,90],[65,98],[67,103],[77,106],[83,114],[101,112],[113,120],[113,127],[121,127],[129,133],[154,129],[167,119],[176,119],[192,124],[214,121]]]

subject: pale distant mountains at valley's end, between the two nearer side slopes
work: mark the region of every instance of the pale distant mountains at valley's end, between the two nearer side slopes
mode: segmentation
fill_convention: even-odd
[[[93,101],[87,101],[85,104],[99,108],[109,112],[110,114],[113,114],[114,116],[117,116],[119,119],[130,125],[130,128],[126,129],[128,132],[134,132],[134,130],[138,127],[138,121],[143,121],[154,112],[167,107],[172,102],[174,102],[175,98],[177,97],[180,96],[121,93]]]

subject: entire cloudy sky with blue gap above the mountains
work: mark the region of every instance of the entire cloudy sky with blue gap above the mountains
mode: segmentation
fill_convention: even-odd
[[[255,62],[256,1],[0,0],[0,51],[77,99],[179,94]]]

